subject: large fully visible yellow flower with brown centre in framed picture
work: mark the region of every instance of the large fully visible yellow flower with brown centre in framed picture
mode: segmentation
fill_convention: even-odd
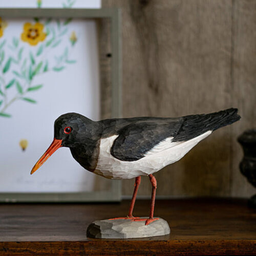
[[[38,42],[44,41],[46,38],[46,33],[43,30],[44,25],[39,22],[34,25],[25,23],[20,38],[22,38],[24,42],[28,42],[31,46],[36,46]]]

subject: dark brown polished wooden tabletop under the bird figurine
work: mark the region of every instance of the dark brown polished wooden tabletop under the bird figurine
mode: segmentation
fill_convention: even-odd
[[[146,216],[149,200],[138,200],[134,215]],[[129,201],[110,204],[2,204],[0,255],[256,254],[256,210],[245,200],[157,200],[155,216],[171,234],[127,240],[90,239],[94,220],[122,217]]]

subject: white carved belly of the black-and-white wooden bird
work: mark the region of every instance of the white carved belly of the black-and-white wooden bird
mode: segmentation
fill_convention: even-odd
[[[157,144],[145,157],[137,161],[121,161],[110,153],[111,146],[118,135],[101,139],[98,163],[95,174],[109,179],[132,179],[141,175],[150,175],[168,164],[180,160],[199,141],[211,134],[208,131],[185,142],[172,142],[172,137]]]

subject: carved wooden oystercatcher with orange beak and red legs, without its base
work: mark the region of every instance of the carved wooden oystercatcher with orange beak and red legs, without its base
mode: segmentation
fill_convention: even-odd
[[[77,113],[67,113],[54,123],[54,139],[31,170],[33,174],[62,146],[69,147],[74,159],[94,174],[108,179],[135,178],[129,214],[125,219],[154,218],[157,181],[154,173],[180,160],[199,141],[222,126],[240,119],[237,109],[179,118],[134,117],[92,121]],[[152,183],[150,217],[133,217],[141,176]]]

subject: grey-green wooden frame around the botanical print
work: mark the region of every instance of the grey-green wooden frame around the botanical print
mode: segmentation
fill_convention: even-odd
[[[117,8],[108,9],[34,9],[34,8],[1,8],[3,18],[82,18],[97,21],[109,20],[110,27],[110,118],[120,118],[121,109],[121,12]],[[101,60],[100,60],[101,61]],[[108,76],[108,75],[107,75]],[[104,75],[103,80],[104,81]],[[102,88],[102,84],[101,84]],[[102,104],[101,104],[102,107]],[[104,115],[103,115],[104,116]],[[0,193],[0,202],[113,202],[121,200],[121,181],[111,181],[110,189],[72,192],[72,193]]]

